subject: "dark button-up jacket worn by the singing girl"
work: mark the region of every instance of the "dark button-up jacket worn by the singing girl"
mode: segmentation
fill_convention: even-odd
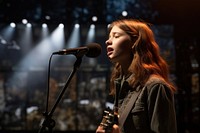
[[[143,86],[131,87],[121,81],[119,119],[132,94],[141,89],[125,122],[124,133],[176,133],[176,114],[173,93],[160,78],[151,77]]]

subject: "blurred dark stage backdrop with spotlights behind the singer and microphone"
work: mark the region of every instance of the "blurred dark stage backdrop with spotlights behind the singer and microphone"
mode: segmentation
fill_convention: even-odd
[[[95,132],[112,106],[105,40],[108,24],[120,18],[151,24],[178,88],[178,132],[199,133],[199,0],[0,0],[0,132],[37,132],[47,89],[50,111],[76,61],[50,56],[96,42],[101,55],[83,57],[52,116],[56,132]]]

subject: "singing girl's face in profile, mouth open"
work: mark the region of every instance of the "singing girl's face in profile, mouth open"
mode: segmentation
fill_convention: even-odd
[[[132,60],[132,43],[127,33],[114,26],[106,41],[107,56],[111,62],[119,62],[121,65],[130,62]]]

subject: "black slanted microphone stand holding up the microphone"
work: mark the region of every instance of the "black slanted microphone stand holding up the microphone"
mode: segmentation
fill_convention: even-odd
[[[43,113],[44,118],[41,120],[40,129],[39,129],[38,133],[42,133],[46,129],[48,129],[49,133],[53,133],[53,128],[55,127],[55,120],[52,119],[52,115],[53,115],[58,103],[60,102],[66,88],[68,87],[71,79],[73,78],[74,74],[76,73],[76,71],[78,70],[78,68],[80,67],[81,62],[82,62],[82,56],[76,56],[76,57],[77,57],[77,59],[76,59],[76,62],[74,63],[73,71],[70,73],[68,80],[65,83],[65,86],[63,87],[62,91],[58,95],[58,98],[57,98],[55,104],[53,105],[52,109],[49,112],[47,112],[47,110],[46,110],[46,112]]]

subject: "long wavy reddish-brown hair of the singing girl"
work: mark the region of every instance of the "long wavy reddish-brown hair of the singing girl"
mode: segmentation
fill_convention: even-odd
[[[168,65],[160,55],[154,33],[148,24],[134,19],[122,19],[111,23],[108,32],[111,31],[113,26],[125,31],[133,41],[132,53],[130,54],[134,56],[128,71],[130,74],[134,74],[134,78],[131,79],[129,84],[132,86],[144,85],[151,75],[156,75],[162,78],[174,92],[176,89],[169,80]],[[111,94],[115,92],[114,80],[119,78],[120,75],[122,75],[121,66],[116,63],[111,74]]]

